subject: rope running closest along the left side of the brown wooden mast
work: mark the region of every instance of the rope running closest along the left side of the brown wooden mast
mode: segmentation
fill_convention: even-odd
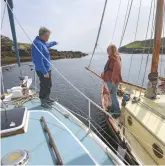
[[[152,29],[151,29],[151,36],[150,36],[150,39],[152,39],[152,36],[153,36],[153,33],[154,33],[154,22],[155,22],[155,17],[154,17],[154,14],[155,14],[155,9],[156,9],[156,1],[154,0],[154,8],[153,8],[153,17],[152,17]],[[151,43],[152,40],[150,41],[150,46],[151,46]],[[154,40],[153,40],[154,42]],[[141,84],[141,87],[143,87],[144,85],[144,80],[145,80],[145,75],[146,75],[146,71],[147,71],[147,65],[148,65],[148,60],[149,60],[149,55],[150,55],[150,47],[148,49],[148,55],[147,55],[147,60],[146,60],[146,64],[145,64],[145,70],[144,70],[144,75],[143,75],[143,80],[142,80],[142,84]],[[141,96],[141,93],[142,93],[142,89],[140,90],[140,94],[139,94],[139,98]]]

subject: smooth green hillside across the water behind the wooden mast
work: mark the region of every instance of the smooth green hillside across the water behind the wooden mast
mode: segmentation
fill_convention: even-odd
[[[135,41],[132,43],[129,43],[125,46],[122,46],[119,48],[119,52],[121,53],[134,53],[134,54],[140,54],[140,53],[152,53],[152,48],[153,48],[153,39],[148,39],[148,40],[142,40],[142,41]],[[146,46],[145,46],[146,43]],[[145,47],[144,47],[145,46]],[[162,50],[163,49],[163,50]],[[161,50],[160,53],[165,54],[165,37],[161,39]]]

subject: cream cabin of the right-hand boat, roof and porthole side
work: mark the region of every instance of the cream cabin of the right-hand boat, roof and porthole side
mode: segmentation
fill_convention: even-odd
[[[142,162],[165,165],[165,95],[156,100],[142,97],[140,103],[129,101],[122,115],[125,136]]]

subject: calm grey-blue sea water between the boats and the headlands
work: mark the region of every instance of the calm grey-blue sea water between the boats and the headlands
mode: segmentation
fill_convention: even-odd
[[[131,62],[130,54],[121,54],[122,57],[122,75],[125,81],[128,80],[128,73]],[[53,65],[80,91],[82,91],[86,96],[92,99],[94,102],[100,105],[100,95],[102,82],[95,75],[91,74],[85,69],[89,64],[91,55],[79,58],[79,59],[61,59],[52,61]],[[130,69],[129,82],[142,85],[142,80],[144,76],[144,71],[146,67],[147,55],[144,55],[142,61],[142,67],[140,71],[140,77],[138,79],[138,73],[140,70],[142,55],[137,54],[132,58],[132,65]],[[91,69],[98,74],[103,71],[104,65],[107,60],[106,54],[95,54],[92,60]],[[165,56],[163,55],[161,64],[161,75],[165,75]],[[26,65],[27,64],[27,65]],[[23,75],[28,75],[29,77],[34,77],[34,71],[30,70],[28,64],[24,63],[22,65]],[[147,76],[150,71],[151,66],[151,55],[149,56],[148,65],[146,67],[146,74],[144,80],[144,87],[147,85]],[[19,69],[17,65],[12,65],[10,71],[3,70],[4,85],[5,89],[16,86],[19,83]],[[160,71],[160,68],[159,68]],[[66,106],[67,108],[81,112],[83,116],[88,114],[88,102],[87,100],[79,94],[76,90],[72,88],[60,75],[52,69],[52,97],[58,98],[59,102]],[[37,84],[39,82],[37,81]],[[39,88],[39,86],[38,86]],[[97,121],[99,119],[99,111],[92,106],[92,118]]]

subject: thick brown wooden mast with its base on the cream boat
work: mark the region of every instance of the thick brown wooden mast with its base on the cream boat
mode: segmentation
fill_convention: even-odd
[[[154,49],[152,54],[151,73],[148,75],[149,83],[145,93],[145,96],[150,99],[156,99],[157,96],[158,64],[161,46],[161,35],[163,28],[163,8],[164,0],[157,0],[155,15]]]

